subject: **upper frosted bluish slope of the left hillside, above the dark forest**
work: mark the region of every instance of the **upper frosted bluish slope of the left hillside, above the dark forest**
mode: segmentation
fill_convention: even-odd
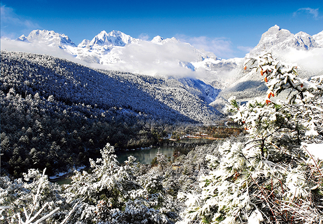
[[[1,52],[1,80],[5,81],[4,92],[11,87],[19,92],[26,89],[45,98],[53,95],[68,105],[97,105],[103,111],[122,107],[169,122],[218,118],[217,111],[175,79],[93,70],[51,56]],[[17,82],[24,84],[18,87]]]

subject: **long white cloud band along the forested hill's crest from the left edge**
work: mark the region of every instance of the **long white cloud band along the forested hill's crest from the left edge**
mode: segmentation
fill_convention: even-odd
[[[205,57],[205,55],[208,55],[209,57],[214,57],[214,55],[210,52],[198,53],[196,48],[193,48],[190,44],[182,43],[176,39],[167,39],[162,44],[156,44],[150,41],[139,41],[139,43],[126,45],[125,47],[115,47],[111,52],[103,56],[102,61],[110,62],[108,65],[86,63],[66,53],[62,49],[39,43],[1,39],[1,50],[50,54],[93,68],[144,75],[196,78],[213,77],[216,79],[226,79],[229,77],[227,73],[225,74],[225,71],[219,74],[217,72],[210,73],[202,67],[196,71],[192,71],[190,68],[183,66],[184,64],[192,66],[189,62],[199,61],[201,60],[201,56]],[[93,55],[88,56],[92,57]],[[84,55],[82,60],[86,61],[86,55]]]

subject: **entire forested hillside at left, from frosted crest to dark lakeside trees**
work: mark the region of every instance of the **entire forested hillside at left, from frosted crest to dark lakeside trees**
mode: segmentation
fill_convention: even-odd
[[[16,176],[87,162],[107,142],[149,146],[174,124],[218,117],[175,79],[1,51],[1,167]]]

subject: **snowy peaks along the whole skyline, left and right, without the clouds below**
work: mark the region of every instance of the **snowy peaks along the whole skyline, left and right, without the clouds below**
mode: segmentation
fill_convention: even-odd
[[[142,43],[145,42],[142,49],[140,49],[143,51],[142,54],[149,53],[158,55],[159,51],[163,49],[157,48],[154,45],[157,44],[166,48],[168,45],[172,44],[172,50],[181,51],[181,54],[191,54],[194,52],[194,57],[191,57],[190,60],[178,59],[177,65],[179,67],[186,68],[192,72],[200,70],[207,73],[207,76],[218,75],[218,73],[223,72],[223,70],[228,71],[235,69],[242,61],[241,59],[234,61],[232,59],[220,60],[213,53],[196,49],[190,44],[182,43],[174,37],[163,39],[161,36],[156,36],[151,41],[143,41],[115,30],[109,33],[103,30],[93,37],[92,40],[84,39],[78,46],[76,46],[76,44],[65,34],[58,34],[48,30],[33,30],[27,37],[21,35],[17,40],[27,43],[38,42],[48,46],[59,47],[81,61],[102,65],[128,63],[123,54],[125,53],[124,51],[126,51],[124,47],[129,45],[142,45]],[[178,47],[178,45],[181,45],[180,49],[175,48]],[[183,47],[184,45],[186,46]],[[155,47],[155,52],[145,49],[146,46],[147,48]],[[292,34],[290,31],[281,29],[279,26],[275,25],[262,34],[258,45],[253,48],[246,57],[253,57],[265,51],[281,52],[290,49],[309,50],[322,47],[323,31],[313,36],[305,32]],[[127,51],[126,53],[136,56],[135,54],[138,52],[134,52],[133,50],[138,50],[138,48],[131,48],[131,50],[132,52]],[[155,63],[161,64],[164,62],[158,59],[155,60]]]

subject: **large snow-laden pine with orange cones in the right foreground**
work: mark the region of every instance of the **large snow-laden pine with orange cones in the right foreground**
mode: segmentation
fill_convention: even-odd
[[[230,99],[228,111],[248,141],[228,141],[220,159],[208,156],[202,192],[178,196],[187,206],[184,222],[322,223],[323,75],[302,79],[270,53],[244,69],[260,70],[268,96],[244,105]],[[289,101],[273,100],[282,91],[290,91]]]

